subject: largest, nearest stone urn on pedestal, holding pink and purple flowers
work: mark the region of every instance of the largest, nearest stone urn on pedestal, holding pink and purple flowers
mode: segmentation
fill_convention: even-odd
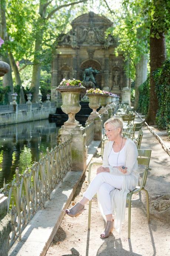
[[[75,115],[80,111],[80,92],[84,91],[86,88],[84,86],[59,86],[56,91],[61,92],[63,104],[61,109],[64,113],[69,115],[69,119],[64,122],[64,125],[79,125],[76,121]]]

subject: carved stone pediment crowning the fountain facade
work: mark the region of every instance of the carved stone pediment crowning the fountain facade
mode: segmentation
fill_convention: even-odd
[[[106,39],[105,31],[112,26],[112,22],[104,16],[89,12],[74,19],[71,26],[72,29],[66,35],[60,35],[59,46],[71,46],[73,49],[81,45],[101,45],[105,49],[116,46],[113,36]]]

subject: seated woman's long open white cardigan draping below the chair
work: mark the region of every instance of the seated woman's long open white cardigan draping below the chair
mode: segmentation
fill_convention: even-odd
[[[117,230],[117,232],[121,233],[121,224],[124,221],[124,215],[125,215],[125,209],[126,209],[127,193],[129,193],[130,190],[133,190],[136,187],[139,180],[139,171],[138,171],[138,163],[137,163],[138,152],[134,142],[130,139],[127,139],[124,145],[125,147],[124,152],[126,154],[125,166],[127,167],[127,173],[123,174],[119,171],[118,168],[111,167],[108,163],[108,158],[109,158],[110,151],[112,150],[112,146],[113,146],[113,141],[109,141],[104,147],[102,166],[109,167],[110,174],[121,175],[124,177],[122,189],[121,190],[115,189],[110,192],[111,208],[114,215],[114,228]],[[99,198],[99,195],[97,196]],[[100,198],[99,198],[99,201],[100,201]],[[100,204],[99,204],[99,207],[100,207],[101,213],[103,214]]]

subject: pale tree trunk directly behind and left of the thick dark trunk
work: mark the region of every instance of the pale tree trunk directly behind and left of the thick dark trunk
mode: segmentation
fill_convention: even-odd
[[[147,54],[141,56],[140,61],[136,64],[136,80],[135,80],[135,102],[134,109],[138,108],[139,102],[139,86],[147,79]]]

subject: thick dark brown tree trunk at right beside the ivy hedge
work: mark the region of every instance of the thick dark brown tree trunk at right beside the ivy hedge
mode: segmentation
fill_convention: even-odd
[[[150,35],[152,34],[152,27]],[[155,33],[156,35],[156,33]],[[163,65],[166,60],[166,43],[164,33],[159,33],[159,39],[156,36],[150,36],[150,101],[146,122],[149,125],[155,124],[156,113],[158,109],[158,99],[155,92],[155,81],[153,72]]]

